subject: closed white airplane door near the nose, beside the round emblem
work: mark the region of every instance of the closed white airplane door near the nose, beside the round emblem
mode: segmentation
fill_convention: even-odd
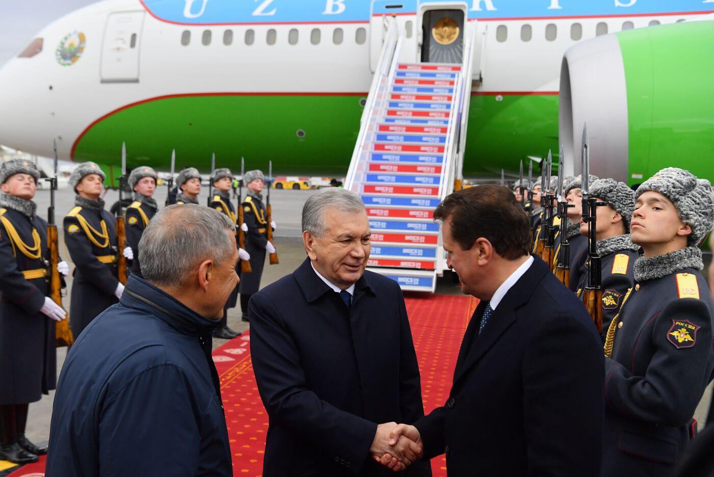
[[[139,44],[144,11],[109,14],[101,51],[102,83],[139,83]]]

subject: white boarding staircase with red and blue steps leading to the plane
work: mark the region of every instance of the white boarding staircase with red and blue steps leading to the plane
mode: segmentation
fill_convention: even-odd
[[[399,61],[398,27],[389,26],[346,177],[369,217],[368,270],[403,290],[433,293],[447,269],[433,211],[461,183],[471,98],[468,33],[463,64],[408,64]]]

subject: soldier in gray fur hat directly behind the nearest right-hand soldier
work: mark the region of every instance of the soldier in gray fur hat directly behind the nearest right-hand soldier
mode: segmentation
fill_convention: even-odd
[[[630,221],[635,210],[635,192],[625,183],[613,179],[598,179],[590,183],[590,197],[605,202],[595,209],[595,249],[602,260],[603,336],[610,322],[620,311],[623,297],[633,286],[635,260],[640,257],[640,246],[630,241]],[[580,224],[580,235],[587,237],[588,225]],[[578,297],[588,284],[588,262],[580,269]]]

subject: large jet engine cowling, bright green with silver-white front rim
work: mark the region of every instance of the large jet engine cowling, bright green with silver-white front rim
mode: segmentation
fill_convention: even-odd
[[[559,136],[580,173],[640,183],[676,166],[714,182],[714,20],[649,26],[579,43],[560,71]]]

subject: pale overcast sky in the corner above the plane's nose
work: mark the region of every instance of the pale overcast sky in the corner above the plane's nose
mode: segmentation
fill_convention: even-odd
[[[44,26],[97,0],[0,0],[0,66]]]

